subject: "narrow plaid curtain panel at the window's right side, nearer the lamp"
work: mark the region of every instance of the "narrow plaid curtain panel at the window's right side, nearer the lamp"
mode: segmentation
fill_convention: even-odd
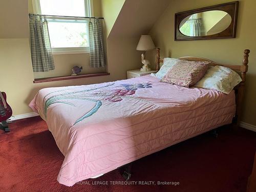
[[[103,32],[100,19],[89,22],[90,32],[90,67],[100,68],[105,66]]]

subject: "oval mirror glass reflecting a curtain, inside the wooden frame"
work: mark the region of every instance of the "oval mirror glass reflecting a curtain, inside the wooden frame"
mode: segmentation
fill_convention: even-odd
[[[214,35],[227,29],[231,24],[231,16],[225,11],[204,11],[184,18],[179,30],[190,37]]]

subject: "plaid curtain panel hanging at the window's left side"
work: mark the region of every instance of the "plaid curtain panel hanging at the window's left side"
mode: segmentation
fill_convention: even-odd
[[[30,15],[30,47],[34,72],[54,70],[46,16]]]

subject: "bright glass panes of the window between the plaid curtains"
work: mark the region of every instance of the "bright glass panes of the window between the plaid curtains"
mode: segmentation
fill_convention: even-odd
[[[43,15],[91,16],[90,0],[38,0]],[[89,52],[88,20],[48,16],[48,30],[54,54]]]

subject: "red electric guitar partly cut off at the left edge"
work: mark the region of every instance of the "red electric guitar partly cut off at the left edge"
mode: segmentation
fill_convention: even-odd
[[[9,132],[6,120],[12,116],[12,109],[6,101],[6,93],[0,91],[0,128]]]

